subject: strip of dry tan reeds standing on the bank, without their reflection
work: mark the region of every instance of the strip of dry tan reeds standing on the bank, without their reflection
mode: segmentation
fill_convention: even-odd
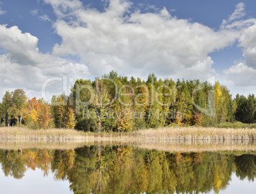
[[[256,141],[256,128],[204,128],[204,127],[165,127],[149,128],[132,132],[82,132],[68,128],[33,130],[23,127],[0,127],[0,142],[39,141],[39,142],[180,142],[180,143],[225,143]]]

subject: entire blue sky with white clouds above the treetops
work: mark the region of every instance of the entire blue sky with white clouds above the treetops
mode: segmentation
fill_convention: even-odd
[[[256,1],[0,0],[0,99],[50,99],[111,70],[255,94]]]

